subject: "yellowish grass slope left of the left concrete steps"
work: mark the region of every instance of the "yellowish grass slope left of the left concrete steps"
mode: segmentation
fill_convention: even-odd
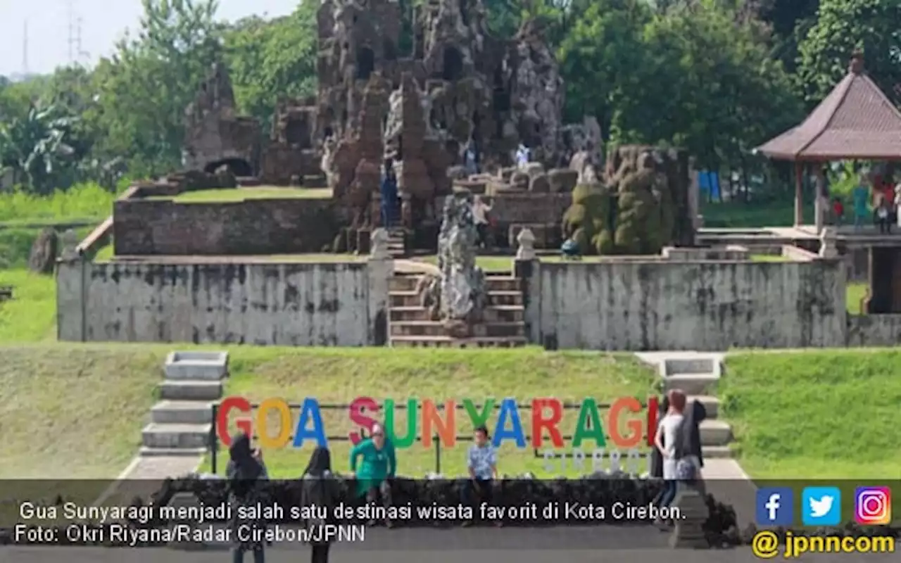
[[[0,347],[0,478],[118,475],[140,447],[167,348]]]

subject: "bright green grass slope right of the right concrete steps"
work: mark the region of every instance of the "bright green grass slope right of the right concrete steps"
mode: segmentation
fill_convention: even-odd
[[[723,417],[755,480],[832,480],[822,485],[842,488],[842,504],[853,504],[855,486],[901,480],[901,351],[741,353],[726,368]]]

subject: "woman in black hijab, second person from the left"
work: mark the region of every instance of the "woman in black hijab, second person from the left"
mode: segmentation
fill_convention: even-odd
[[[301,506],[309,517],[306,518],[307,537],[312,549],[313,563],[328,563],[329,542],[325,525],[334,524],[335,506],[341,501],[338,482],[332,478],[332,455],[327,448],[316,448],[304,471],[301,489]]]

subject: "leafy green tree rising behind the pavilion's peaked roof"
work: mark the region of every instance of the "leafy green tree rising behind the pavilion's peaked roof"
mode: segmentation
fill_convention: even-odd
[[[808,104],[822,100],[862,49],[876,84],[897,104],[901,96],[901,4],[887,0],[821,0],[815,25],[801,41],[798,88]]]

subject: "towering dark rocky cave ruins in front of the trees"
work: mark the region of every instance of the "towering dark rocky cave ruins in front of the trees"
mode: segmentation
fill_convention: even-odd
[[[427,0],[414,7],[412,49],[401,52],[396,0],[322,0],[317,27],[315,99],[279,104],[261,139],[256,122],[234,115],[227,74],[214,68],[188,109],[186,167],[225,164],[264,184],[331,187],[356,232],[378,226],[390,158],[404,226],[426,244],[437,240],[454,184],[495,202],[512,197],[495,206],[511,240],[514,228],[529,226],[539,246],[556,243],[581,174],[569,167],[600,164],[600,128],[590,117],[561,123],[563,82],[538,23],[501,40],[487,32],[482,0]],[[527,170],[514,168],[520,143],[531,150]],[[462,167],[468,147],[478,177]]]

